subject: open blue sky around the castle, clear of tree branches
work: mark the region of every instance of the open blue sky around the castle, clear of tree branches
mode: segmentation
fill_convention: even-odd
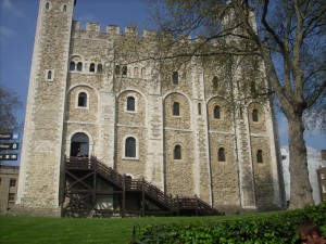
[[[25,117],[30,62],[39,0],[0,0],[0,86],[15,91],[24,103],[17,112],[18,120]],[[74,20],[125,26],[150,26],[147,5],[140,0],[77,0]],[[287,120],[278,116],[280,144],[288,144]],[[326,149],[326,136],[312,132],[306,144],[317,150]]]

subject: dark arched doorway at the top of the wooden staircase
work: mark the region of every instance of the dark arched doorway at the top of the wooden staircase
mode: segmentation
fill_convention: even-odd
[[[75,133],[72,137],[71,156],[86,156],[89,154],[89,139],[86,133]]]

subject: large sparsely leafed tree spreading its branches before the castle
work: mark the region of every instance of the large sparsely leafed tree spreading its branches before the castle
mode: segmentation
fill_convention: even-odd
[[[159,29],[163,35],[173,37],[170,46],[161,43],[164,48],[160,49],[165,52],[159,57],[190,59],[228,54],[259,56],[263,60],[269,88],[267,93],[263,93],[275,94],[288,119],[291,177],[289,207],[313,204],[303,137],[306,129],[304,115],[316,114],[321,125],[325,125],[326,2],[148,1]],[[196,40],[192,48],[180,44],[190,39]]]

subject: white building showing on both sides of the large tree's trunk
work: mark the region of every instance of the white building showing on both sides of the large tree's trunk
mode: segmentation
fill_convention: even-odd
[[[286,192],[286,200],[290,201],[290,171],[289,171],[289,147],[283,146],[280,149],[281,153],[281,164],[283,164],[283,175],[284,175],[284,184]],[[306,160],[308,160],[308,171],[309,171],[309,181],[312,187],[312,194],[315,204],[319,204],[323,198],[321,197],[321,188],[323,188],[323,182],[325,184],[325,180],[323,181],[323,172],[326,168],[326,157],[325,150],[318,151],[313,147],[306,146]],[[319,179],[319,180],[318,180]],[[322,183],[322,184],[321,184]],[[325,188],[324,188],[325,189]],[[325,201],[325,200],[324,200]]]

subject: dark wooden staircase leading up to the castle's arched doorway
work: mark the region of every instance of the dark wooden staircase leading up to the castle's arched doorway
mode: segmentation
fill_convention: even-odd
[[[99,189],[99,180],[110,187]],[[101,196],[112,197],[117,206],[99,209],[97,200]],[[65,159],[65,188],[61,205],[63,217],[221,215],[197,196],[173,197],[145,179],[131,179],[118,174],[93,156]]]

